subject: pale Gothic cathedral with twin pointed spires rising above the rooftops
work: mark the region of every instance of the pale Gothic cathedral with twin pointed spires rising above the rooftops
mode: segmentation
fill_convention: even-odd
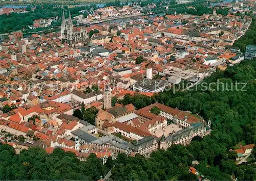
[[[62,43],[68,43],[75,45],[79,42],[83,42],[89,38],[87,30],[84,26],[74,26],[71,14],[69,12],[69,18],[65,19],[64,10],[62,12],[61,28],[60,28],[60,40]]]

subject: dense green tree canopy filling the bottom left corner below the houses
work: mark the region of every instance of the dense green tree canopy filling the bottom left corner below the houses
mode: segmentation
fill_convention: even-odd
[[[0,144],[1,180],[98,180],[109,169],[95,154],[80,162],[74,153],[55,148],[52,154],[30,147],[15,154],[12,146]]]

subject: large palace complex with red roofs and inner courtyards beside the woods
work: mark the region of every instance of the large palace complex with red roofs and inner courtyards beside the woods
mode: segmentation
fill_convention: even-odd
[[[153,107],[159,109],[159,114],[151,112]],[[135,118],[140,125],[132,126],[126,124],[127,116]],[[122,119],[120,119],[122,118]],[[133,120],[132,119],[132,120]],[[172,120],[173,124],[179,127],[176,131],[167,132],[167,120]],[[100,148],[108,147],[113,153],[120,152],[134,156],[136,153],[145,157],[150,157],[153,151],[167,149],[174,144],[187,145],[196,137],[204,137],[210,134],[210,120],[205,121],[200,116],[194,116],[178,109],[173,109],[165,105],[156,103],[136,111],[131,105],[115,107],[109,110],[100,110],[96,116],[96,126],[99,132],[105,136],[96,138],[85,132],[74,132],[73,136],[78,136],[84,144],[94,145]],[[163,130],[162,137],[153,135]],[[166,132],[165,132],[166,131]],[[81,132],[81,131],[80,131]],[[122,138],[136,140],[136,143],[127,142],[112,134],[120,134]],[[161,132],[160,132],[161,133]]]

